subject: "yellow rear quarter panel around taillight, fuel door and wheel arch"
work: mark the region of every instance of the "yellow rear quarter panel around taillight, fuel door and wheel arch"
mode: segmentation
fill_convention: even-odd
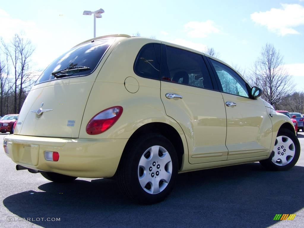
[[[138,42],[136,41],[138,40]],[[181,136],[184,154],[188,158],[188,147],[181,127],[168,117],[160,99],[160,81],[142,78],[133,71],[134,60],[140,48],[146,43],[156,43],[152,39],[126,39],[118,44],[102,67],[89,95],[83,116],[79,137],[93,139],[129,139],[141,126],[147,123],[167,123]],[[125,87],[126,78],[138,82],[138,91],[129,92]],[[136,83],[134,83],[136,84]],[[135,85],[133,85],[135,86]],[[86,126],[98,112],[112,106],[123,107],[123,114],[107,131],[98,135],[88,135]],[[186,159],[188,162],[188,159]]]

